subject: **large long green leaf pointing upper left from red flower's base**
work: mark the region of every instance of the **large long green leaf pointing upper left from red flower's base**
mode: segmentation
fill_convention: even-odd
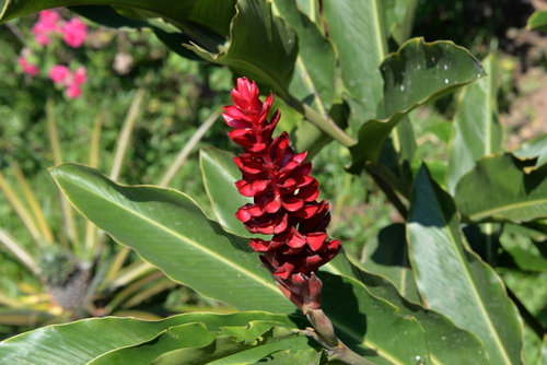
[[[74,164],[53,168],[51,174],[85,217],[172,280],[240,309],[294,309],[259,267],[247,239],[224,232],[187,196],[120,186]]]

